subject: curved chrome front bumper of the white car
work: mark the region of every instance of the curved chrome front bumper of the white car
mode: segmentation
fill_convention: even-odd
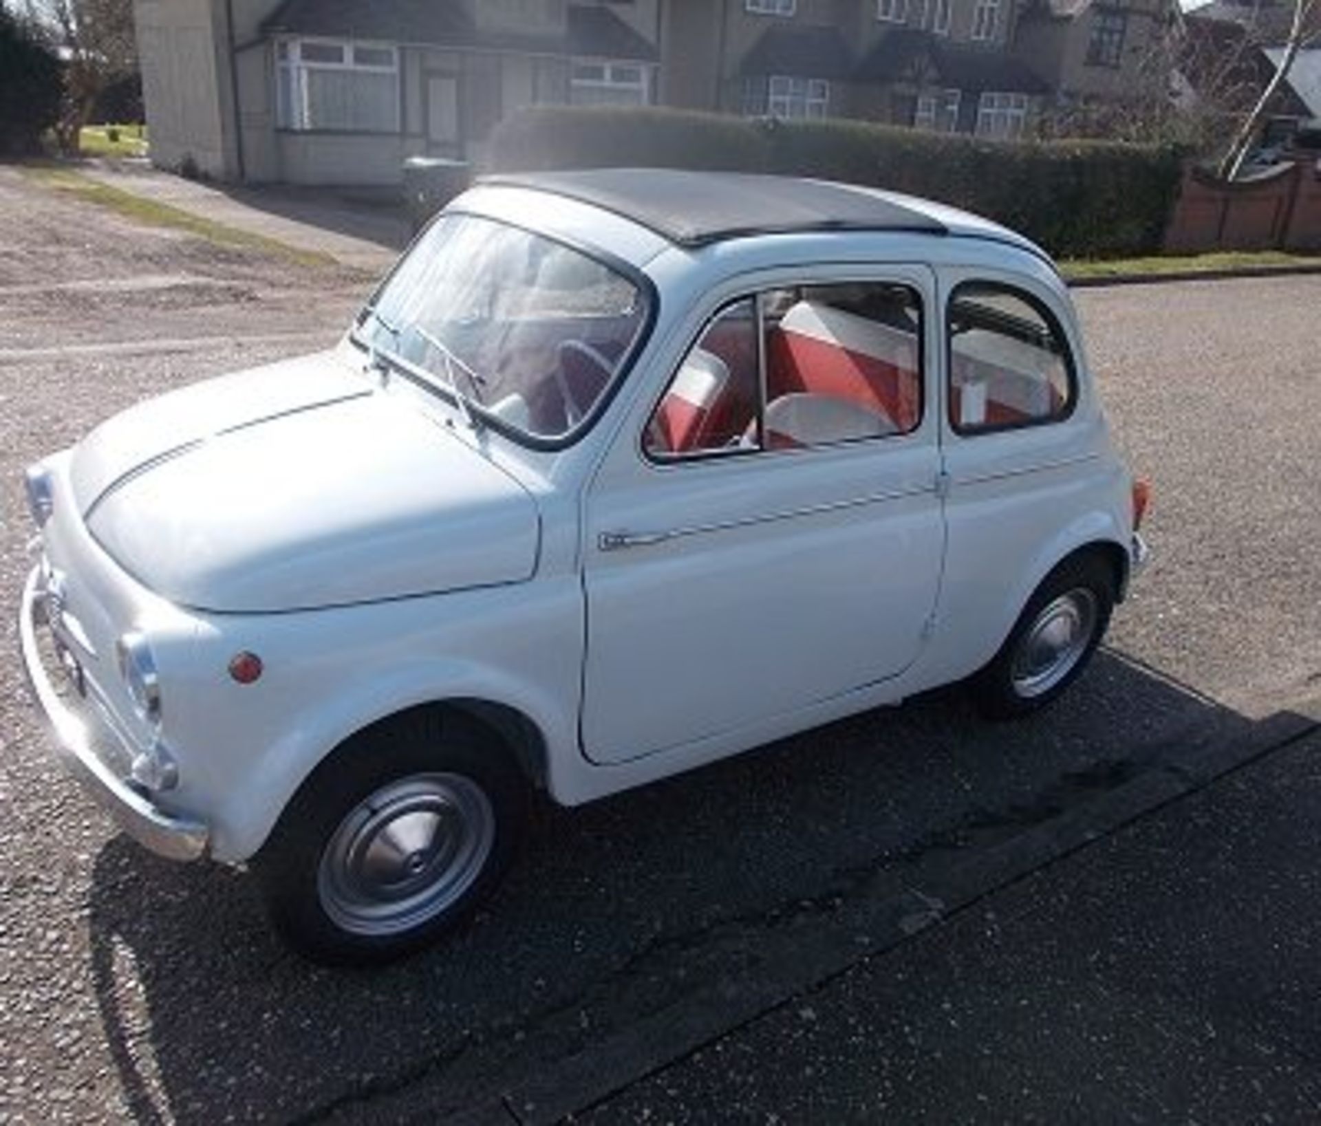
[[[65,767],[128,836],[153,853],[172,861],[205,855],[210,830],[203,822],[157,808],[102,762],[92,723],[61,700],[46,673],[37,643],[38,615],[45,618],[45,606],[41,568],[34,568],[22,589],[18,644],[28,686],[54,731],[55,750]]]

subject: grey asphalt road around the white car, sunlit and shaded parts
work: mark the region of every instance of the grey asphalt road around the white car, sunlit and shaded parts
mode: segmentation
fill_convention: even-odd
[[[140,397],[329,345],[370,280],[132,227],[9,169],[0,231],[13,652],[22,467]],[[1078,304],[1116,436],[1155,486],[1156,556],[1058,708],[992,726],[943,692],[543,808],[473,925],[384,972],[305,965],[244,874],[116,836],[52,762],[8,663],[0,1119],[553,1118],[867,954],[890,925],[878,904],[933,865],[971,871],[1189,747],[1273,738],[1321,692],[1321,277]],[[890,923],[939,915],[915,902]]]

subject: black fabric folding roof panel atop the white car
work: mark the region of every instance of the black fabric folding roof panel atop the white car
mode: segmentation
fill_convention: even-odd
[[[551,191],[590,203],[680,247],[746,235],[810,231],[917,231],[946,235],[943,223],[865,189],[824,180],[734,172],[606,168],[490,176],[482,183]]]

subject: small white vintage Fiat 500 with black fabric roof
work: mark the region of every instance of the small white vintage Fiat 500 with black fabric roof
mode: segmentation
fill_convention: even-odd
[[[462,917],[536,791],[952,681],[1033,712],[1145,554],[1037,247],[732,174],[483,181],[332,351],[133,407],[26,487],[53,746],[330,961]]]

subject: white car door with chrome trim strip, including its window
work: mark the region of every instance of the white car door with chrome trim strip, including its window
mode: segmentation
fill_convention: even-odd
[[[705,310],[585,499],[581,738],[621,762],[884,681],[943,553],[919,268]]]

